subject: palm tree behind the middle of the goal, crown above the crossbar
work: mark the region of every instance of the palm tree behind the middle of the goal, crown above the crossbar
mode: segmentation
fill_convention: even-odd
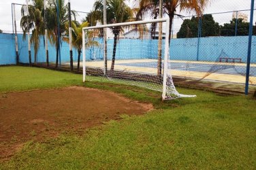
[[[125,3],[125,0],[106,0],[107,23],[121,23],[133,20],[133,10]],[[97,0],[94,3],[94,13],[103,23],[103,0]],[[97,18],[96,16],[94,18]],[[122,27],[110,28],[114,34],[114,48],[112,53],[111,71],[114,71],[114,62],[116,59],[116,45],[118,36],[123,31]]]

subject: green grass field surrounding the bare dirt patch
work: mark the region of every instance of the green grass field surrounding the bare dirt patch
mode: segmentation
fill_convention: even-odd
[[[47,69],[0,67],[0,97],[14,91],[86,86],[153,103],[155,109],[143,116],[123,115],[82,135],[63,131],[44,141],[27,141],[1,162],[0,169],[256,168],[253,97],[178,88],[197,97],[162,102],[160,92],[108,81],[82,84],[81,78]]]

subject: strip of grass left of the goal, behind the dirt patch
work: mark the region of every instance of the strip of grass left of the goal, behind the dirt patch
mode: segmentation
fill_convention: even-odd
[[[30,67],[0,67],[0,92],[71,86],[81,75]]]

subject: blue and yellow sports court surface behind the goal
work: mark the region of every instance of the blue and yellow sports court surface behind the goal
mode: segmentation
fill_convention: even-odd
[[[82,63],[81,63],[82,65]],[[111,61],[108,61],[110,69]],[[86,67],[103,68],[103,61],[86,61]],[[174,76],[232,83],[245,82],[246,63],[219,63],[205,61],[169,61],[170,73]],[[157,60],[115,61],[114,68],[121,71],[138,73],[157,73]],[[256,84],[256,64],[251,64],[251,84]]]

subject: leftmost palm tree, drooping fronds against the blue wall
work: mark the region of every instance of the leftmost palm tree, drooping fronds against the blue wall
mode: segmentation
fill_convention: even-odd
[[[37,52],[39,50],[40,35],[44,35],[44,15],[42,14],[43,10],[44,1],[42,0],[32,0],[32,4],[29,5],[29,16],[26,14],[27,6],[23,5],[21,8],[22,18],[20,20],[20,27],[22,27],[23,30],[23,39],[25,39],[27,31],[32,30],[30,41],[34,45],[35,50],[34,63],[37,63]]]

